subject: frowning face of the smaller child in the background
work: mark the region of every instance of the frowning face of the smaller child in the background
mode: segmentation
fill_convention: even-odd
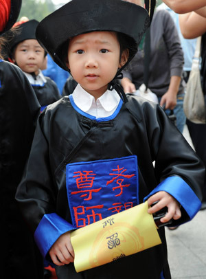
[[[14,51],[14,62],[26,73],[38,74],[45,59],[45,51],[35,39],[19,43]]]

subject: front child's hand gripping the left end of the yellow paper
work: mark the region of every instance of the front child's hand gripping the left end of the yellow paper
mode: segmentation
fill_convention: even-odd
[[[49,256],[55,265],[73,263],[74,251],[71,245],[70,232],[62,234],[49,250]]]

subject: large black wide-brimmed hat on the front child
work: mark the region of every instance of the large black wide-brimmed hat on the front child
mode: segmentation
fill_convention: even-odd
[[[137,47],[149,25],[147,10],[127,1],[72,0],[38,24],[36,38],[54,61],[68,70],[62,45],[69,38],[93,31],[121,32],[133,38]]]

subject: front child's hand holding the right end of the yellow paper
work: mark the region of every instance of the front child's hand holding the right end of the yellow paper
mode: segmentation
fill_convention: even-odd
[[[181,210],[179,202],[174,199],[170,194],[164,191],[157,192],[156,194],[153,194],[148,199],[148,205],[152,205],[152,203],[155,203],[155,201],[158,201],[155,205],[153,205],[151,208],[148,209],[148,213],[153,214],[165,206],[168,208],[168,213],[165,214],[163,218],[160,219],[161,223],[166,223],[170,221],[171,219],[177,220],[181,218]]]

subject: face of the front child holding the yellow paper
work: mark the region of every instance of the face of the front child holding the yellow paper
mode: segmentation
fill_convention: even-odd
[[[120,47],[114,32],[91,32],[69,41],[68,67],[73,78],[95,99],[102,96],[107,85],[127,58],[119,61]]]

